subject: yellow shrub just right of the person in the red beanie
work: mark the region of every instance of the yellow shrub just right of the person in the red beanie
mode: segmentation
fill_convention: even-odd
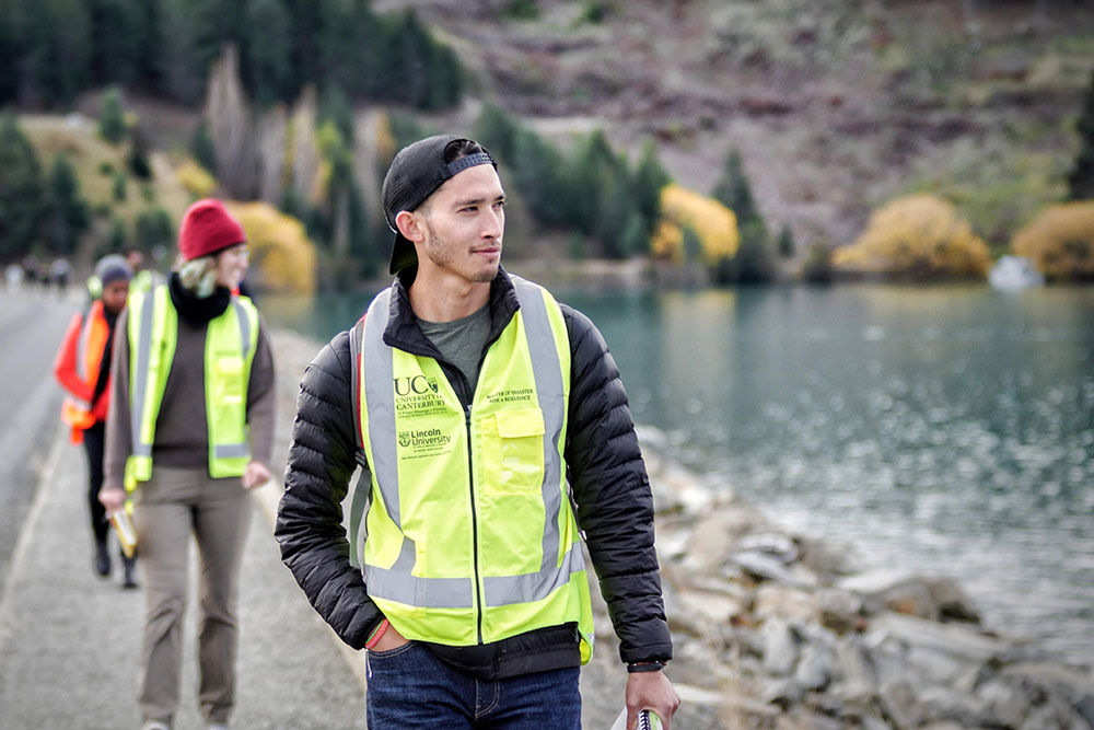
[[[251,265],[264,289],[282,293],[315,291],[315,244],[304,224],[268,202],[225,202],[247,232]]]

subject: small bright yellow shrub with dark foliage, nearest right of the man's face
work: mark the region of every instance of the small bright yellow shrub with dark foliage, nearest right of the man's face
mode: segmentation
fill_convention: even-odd
[[[661,258],[685,260],[685,229],[698,236],[707,264],[733,258],[737,253],[741,234],[733,211],[713,198],[671,183],[661,190],[661,220],[650,240],[650,251]]]

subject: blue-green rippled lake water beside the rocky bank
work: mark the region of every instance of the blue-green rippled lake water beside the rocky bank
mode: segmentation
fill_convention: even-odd
[[[954,576],[989,627],[1094,662],[1094,288],[556,294],[682,462],[864,567]],[[326,339],[368,299],[260,303]]]

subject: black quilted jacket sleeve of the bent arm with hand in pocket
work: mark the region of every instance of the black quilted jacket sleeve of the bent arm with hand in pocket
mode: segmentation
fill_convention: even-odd
[[[274,534],[281,560],[342,641],[360,649],[383,618],[350,565],[341,501],[357,467],[348,333],[304,371]]]

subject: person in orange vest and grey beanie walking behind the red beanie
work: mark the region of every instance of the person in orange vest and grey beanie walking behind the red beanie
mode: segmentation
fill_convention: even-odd
[[[54,374],[68,391],[61,420],[71,427],[72,442],[82,442],[88,454],[88,507],[95,536],[93,564],[95,571],[105,578],[110,575],[109,523],[98,501],[98,490],[103,486],[106,414],[110,402],[110,352],[118,313],[129,296],[132,268],[121,256],[110,254],[95,265],[95,277],[102,293],[72,315],[54,362]],[[121,554],[121,560],[123,588],[137,588],[136,558]]]

